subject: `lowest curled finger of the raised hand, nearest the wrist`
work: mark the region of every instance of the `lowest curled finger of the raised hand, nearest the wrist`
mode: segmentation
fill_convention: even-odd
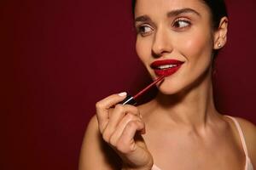
[[[145,124],[140,121],[128,122],[123,133],[119,137],[119,141],[116,144],[117,150],[123,154],[128,154],[131,153],[131,151],[136,150],[137,145],[134,140],[135,134],[137,131],[143,130],[144,127]]]

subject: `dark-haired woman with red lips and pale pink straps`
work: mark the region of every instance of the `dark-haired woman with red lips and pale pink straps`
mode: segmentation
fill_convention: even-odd
[[[125,93],[97,102],[79,169],[256,167],[256,127],[213,104],[212,62],[227,41],[224,2],[137,0],[134,17],[138,56],[153,79],[166,77],[144,105],[119,105]]]

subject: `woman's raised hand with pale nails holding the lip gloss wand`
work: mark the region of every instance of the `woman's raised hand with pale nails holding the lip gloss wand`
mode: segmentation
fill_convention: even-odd
[[[124,169],[150,170],[153,157],[141,136],[145,124],[137,107],[118,104],[125,96],[126,93],[113,94],[96,103],[102,138],[121,157]]]

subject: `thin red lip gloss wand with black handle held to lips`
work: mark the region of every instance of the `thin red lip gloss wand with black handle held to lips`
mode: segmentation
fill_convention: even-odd
[[[150,88],[152,88],[157,82],[160,82],[161,80],[164,79],[165,76],[161,76],[158,77],[156,80],[154,80],[154,82],[152,82],[151,84],[149,84],[146,88],[143,88],[143,90],[141,90],[139,93],[137,93],[134,96],[131,95],[127,95],[126,98],[120,102],[120,104],[122,105],[136,105],[136,99],[143,95],[145,92],[147,92]]]

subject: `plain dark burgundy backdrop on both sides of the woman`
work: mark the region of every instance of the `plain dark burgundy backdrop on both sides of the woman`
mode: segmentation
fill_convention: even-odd
[[[256,123],[254,0],[230,0],[217,60],[218,110]],[[77,169],[95,103],[150,80],[130,1],[1,0],[0,169]]]

